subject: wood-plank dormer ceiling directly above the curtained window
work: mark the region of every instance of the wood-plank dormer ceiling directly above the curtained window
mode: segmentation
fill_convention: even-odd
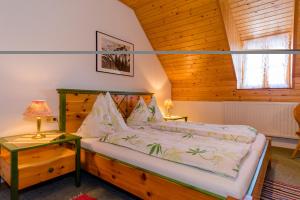
[[[294,0],[229,0],[241,40],[293,30]]]

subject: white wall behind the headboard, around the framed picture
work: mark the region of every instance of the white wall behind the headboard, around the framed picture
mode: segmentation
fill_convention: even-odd
[[[134,12],[117,0],[1,0],[0,50],[95,50],[95,31],[152,50]],[[45,99],[57,115],[56,88],[155,92],[170,98],[156,56],[136,55],[135,76],[95,71],[95,55],[0,55],[0,136],[34,130],[22,113]],[[15,131],[17,130],[17,131]]]

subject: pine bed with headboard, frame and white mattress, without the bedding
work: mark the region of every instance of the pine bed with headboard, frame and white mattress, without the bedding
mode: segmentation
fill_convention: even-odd
[[[76,132],[99,93],[96,90],[58,89],[60,130]],[[139,96],[149,102],[152,93],[110,91],[126,119]],[[122,153],[120,153],[122,152]],[[87,172],[142,199],[260,199],[270,163],[270,140],[258,135],[239,177],[231,180],[193,167],[179,165],[124,147],[82,140],[81,164]]]

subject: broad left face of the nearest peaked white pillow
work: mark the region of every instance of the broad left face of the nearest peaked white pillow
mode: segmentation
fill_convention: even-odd
[[[101,137],[103,134],[115,131],[108,104],[103,96],[99,94],[89,115],[83,121],[77,134],[82,137]]]

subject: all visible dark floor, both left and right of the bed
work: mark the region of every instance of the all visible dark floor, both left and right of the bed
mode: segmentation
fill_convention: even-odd
[[[272,168],[268,173],[268,179],[300,186],[300,153],[294,160],[290,159],[291,154],[292,150],[289,149],[272,148]],[[22,191],[20,199],[69,200],[80,193],[86,193],[101,200],[136,199],[136,197],[84,172],[80,188],[75,187],[72,175],[66,175]],[[6,184],[0,185],[0,199],[9,200],[9,189]]]

